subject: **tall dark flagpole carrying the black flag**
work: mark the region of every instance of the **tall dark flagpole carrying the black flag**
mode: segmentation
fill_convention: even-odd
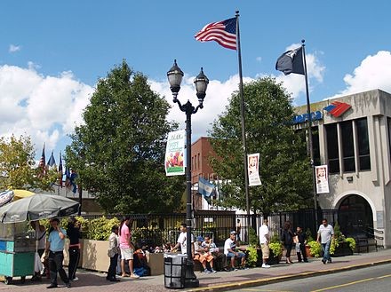
[[[306,60],[306,51],[305,51],[305,40],[301,40],[301,47],[303,48],[303,62],[304,62],[304,76],[306,79],[306,93],[307,93],[307,127],[308,127],[308,147],[309,147],[309,158],[311,163],[312,170],[312,186],[314,193],[314,212],[315,212],[315,232],[318,224],[317,217],[317,201],[316,201],[316,181],[315,181],[315,163],[314,163],[314,146],[312,143],[312,116],[311,108],[309,104],[309,91],[308,91],[308,77],[307,77],[307,60]]]

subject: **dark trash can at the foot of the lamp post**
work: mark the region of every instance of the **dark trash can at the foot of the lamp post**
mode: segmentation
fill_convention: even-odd
[[[188,256],[164,253],[164,287],[185,288]]]

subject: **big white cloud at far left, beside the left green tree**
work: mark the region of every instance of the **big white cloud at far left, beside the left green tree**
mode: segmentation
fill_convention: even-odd
[[[80,124],[92,87],[70,72],[44,76],[28,68],[0,67],[0,136],[28,135],[36,149],[55,148],[60,138]],[[37,150],[38,152],[40,150]]]

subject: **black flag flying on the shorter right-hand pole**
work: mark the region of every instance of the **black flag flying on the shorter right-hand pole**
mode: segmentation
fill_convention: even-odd
[[[275,69],[282,71],[284,75],[289,75],[291,73],[304,75],[303,47],[285,51],[277,59]]]

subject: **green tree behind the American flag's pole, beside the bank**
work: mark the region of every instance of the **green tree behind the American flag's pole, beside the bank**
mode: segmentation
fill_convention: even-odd
[[[251,209],[264,215],[308,207],[311,168],[303,133],[291,127],[290,95],[273,78],[244,85],[247,153],[259,153],[262,185],[250,187]],[[211,158],[222,186],[219,204],[245,209],[240,97],[234,92],[226,111],[213,122],[211,144],[219,158]]]

